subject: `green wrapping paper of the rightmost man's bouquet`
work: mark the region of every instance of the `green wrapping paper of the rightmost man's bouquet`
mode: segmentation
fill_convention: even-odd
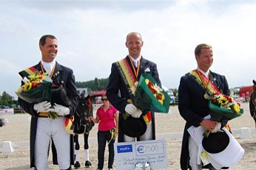
[[[220,121],[221,119],[227,119],[231,120],[233,118],[237,118],[241,115],[243,115],[243,109],[240,109],[239,113],[235,113],[230,109],[224,109],[221,107],[218,107],[217,105],[212,104],[212,102],[209,101],[209,113],[211,115],[211,119],[214,121]]]

